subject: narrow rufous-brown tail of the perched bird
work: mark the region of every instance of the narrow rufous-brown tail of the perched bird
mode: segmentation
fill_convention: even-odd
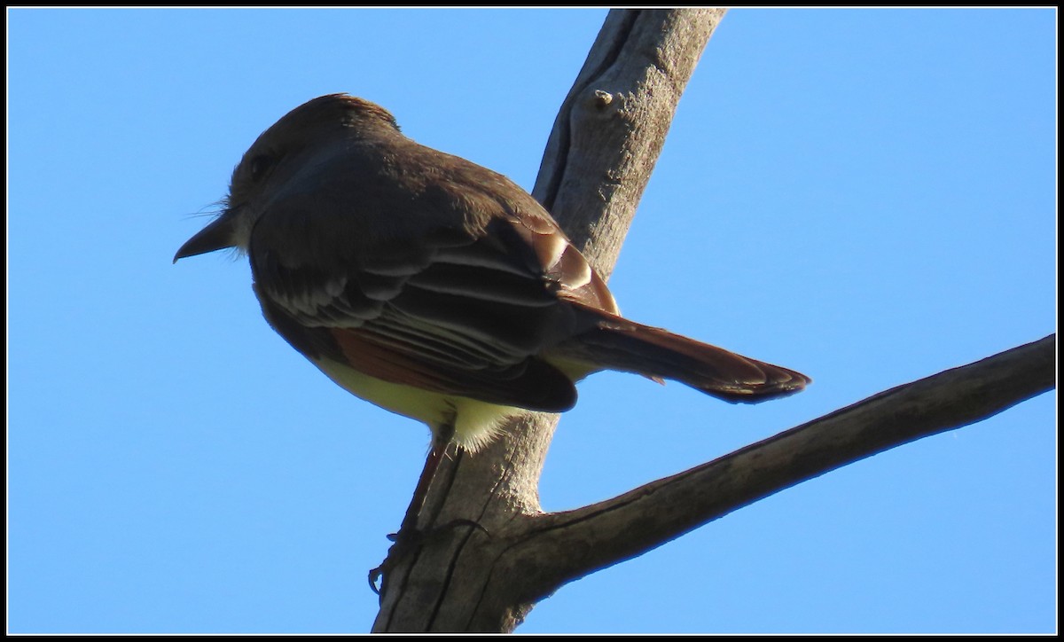
[[[559,346],[565,360],[594,369],[672,379],[731,402],[754,404],[801,391],[812,379],[694,339],[596,311],[597,326]]]

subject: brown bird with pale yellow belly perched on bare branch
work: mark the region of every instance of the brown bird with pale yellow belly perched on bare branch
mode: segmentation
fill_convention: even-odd
[[[811,382],[625,318],[530,194],[414,142],[387,110],[347,94],[312,99],[263,132],[222,202],[173,262],[246,254],[269,325],[342,388],[428,425],[430,462],[449,443],[482,449],[514,414],[571,409],[576,382],[599,371],[731,402]]]

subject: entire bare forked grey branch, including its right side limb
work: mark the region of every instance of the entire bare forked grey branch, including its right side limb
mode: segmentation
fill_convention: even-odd
[[[608,275],[722,10],[612,11],[554,124],[533,195]],[[1055,335],[909,383],[616,498],[544,514],[555,415],[529,413],[433,480],[420,547],[389,554],[375,631],[510,631],[562,585],[838,466],[1054,385]],[[476,523],[476,526],[471,525]]]

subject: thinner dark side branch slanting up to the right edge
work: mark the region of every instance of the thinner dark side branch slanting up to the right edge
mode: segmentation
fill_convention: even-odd
[[[537,567],[535,600],[738,508],[909,442],[983,421],[1055,386],[1057,335],[899,385],[613,499],[538,515],[500,556]]]

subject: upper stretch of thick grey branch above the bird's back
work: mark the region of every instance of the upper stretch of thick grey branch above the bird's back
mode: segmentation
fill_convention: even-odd
[[[610,12],[562,102],[532,195],[603,277],[725,11]]]

